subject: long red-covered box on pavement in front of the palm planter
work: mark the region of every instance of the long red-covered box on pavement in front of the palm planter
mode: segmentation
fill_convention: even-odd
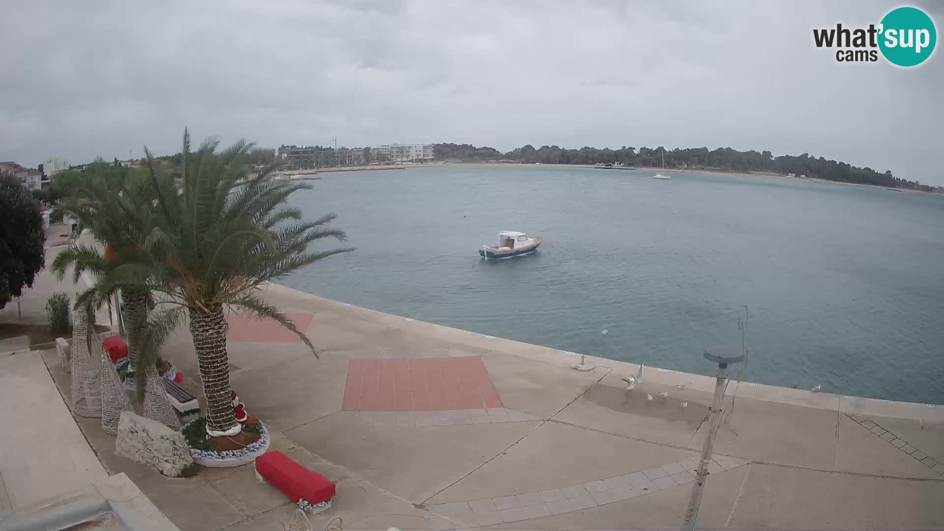
[[[335,485],[325,476],[310,471],[295,463],[281,452],[269,452],[256,457],[256,477],[281,490],[293,502],[307,503],[312,513],[318,513],[331,506],[334,500]]]

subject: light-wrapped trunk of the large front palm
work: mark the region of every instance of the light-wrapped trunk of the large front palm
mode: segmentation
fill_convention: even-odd
[[[207,399],[207,432],[235,435],[240,424],[230,400],[228,328],[223,306],[211,306],[209,311],[191,308],[190,333],[194,336],[196,362]]]

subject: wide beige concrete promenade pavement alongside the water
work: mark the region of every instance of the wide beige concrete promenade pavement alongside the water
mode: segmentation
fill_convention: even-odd
[[[229,316],[233,388],[274,450],[338,485],[345,529],[680,528],[714,379],[455,330],[270,284],[319,351],[273,323]],[[694,352],[693,355],[698,355]],[[54,351],[42,353],[68,392]],[[201,398],[186,327],[162,355]],[[63,387],[66,387],[63,389]],[[944,526],[944,407],[733,385],[700,528]],[[660,392],[667,392],[662,399]],[[652,401],[646,395],[654,396]],[[681,403],[687,403],[683,407]],[[113,454],[180,529],[283,529],[295,505],[251,465],[168,479]]]

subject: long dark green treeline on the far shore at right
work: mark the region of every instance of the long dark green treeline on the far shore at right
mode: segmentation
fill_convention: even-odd
[[[800,156],[782,155],[774,157],[769,151],[737,151],[730,147],[709,150],[707,147],[685,149],[665,149],[623,146],[620,149],[598,149],[584,146],[580,149],[565,149],[558,146],[541,146],[537,149],[528,145],[517,147],[501,154],[491,147],[476,147],[468,144],[437,144],[436,159],[455,159],[459,162],[486,162],[510,160],[516,163],[544,164],[594,164],[624,163],[636,166],[661,166],[665,151],[666,168],[700,168],[735,172],[773,172],[786,175],[794,173],[798,177],[806,175],[824,180],[839,180],[861,184],[875,184],[900,188],[914,188],[931,191],[931,187],[918,181],[902,180],[894,177],[891,171],[879,173],[872,168],[860,168],[848,163],[827,161],[823,157],[810,157],[809,153]]]

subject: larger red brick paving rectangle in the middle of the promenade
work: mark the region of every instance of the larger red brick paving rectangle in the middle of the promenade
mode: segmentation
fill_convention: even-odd
[[[479,356],[351,360],[342,409],[438,411],[502,407]]]

